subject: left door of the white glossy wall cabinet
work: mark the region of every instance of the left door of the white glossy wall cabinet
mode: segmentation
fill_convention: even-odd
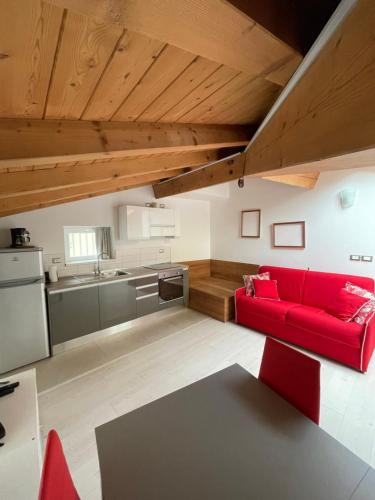
[[[119,208],[121,240],[150,239],[150,209],[126,205]]]

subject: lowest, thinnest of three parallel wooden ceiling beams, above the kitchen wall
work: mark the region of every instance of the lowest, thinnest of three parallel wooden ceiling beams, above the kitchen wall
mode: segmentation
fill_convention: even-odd
[[[168,175],[179,175],[186,169],[174,169]],[[125,179],[111,179],[99,181],[89,185],[79,185],[62,187],[54,191],[43,191],[40,193],[22,194],[0,199],[0,217],[12,215],[20,212],[27,212],[38,208],[45,208],[71,201],[93,198],[104,194],[134,189],[141,186],[150,185],[152,182],[165,177],[165,174],[153,173],[148,175],[135,175]]]

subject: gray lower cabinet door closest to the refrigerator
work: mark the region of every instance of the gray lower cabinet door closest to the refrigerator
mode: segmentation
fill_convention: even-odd
[[[100,330],[98,287],[48,294],[52,345]]]

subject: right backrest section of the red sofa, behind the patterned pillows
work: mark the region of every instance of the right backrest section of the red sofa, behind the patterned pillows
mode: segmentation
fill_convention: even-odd
[[[371,292],[374,291],[374,280],[372,278],[307,271],[302,303],[307,306],[325,309],[348,281]]]

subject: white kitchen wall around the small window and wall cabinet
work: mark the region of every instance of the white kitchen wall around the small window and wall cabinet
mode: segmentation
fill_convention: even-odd
[[[10,227],[26,227],[30,231],[32,244],[43,247],[47,254],[64,252],[64,225],[114,226],[118,239],[117,207],[125,204],[143,205],[150,201],[155,201],[152,189],[145,187],[3,217],[0,218],[0,246],[10,244]],[[170,247],[173,261],[209,258],[209,202],[180,198],[157,201],[179,211],[181,237],[153,238],[142,242],[116,241],[117,248],[125,254],[134,254],[134,249],[140,247]]]

